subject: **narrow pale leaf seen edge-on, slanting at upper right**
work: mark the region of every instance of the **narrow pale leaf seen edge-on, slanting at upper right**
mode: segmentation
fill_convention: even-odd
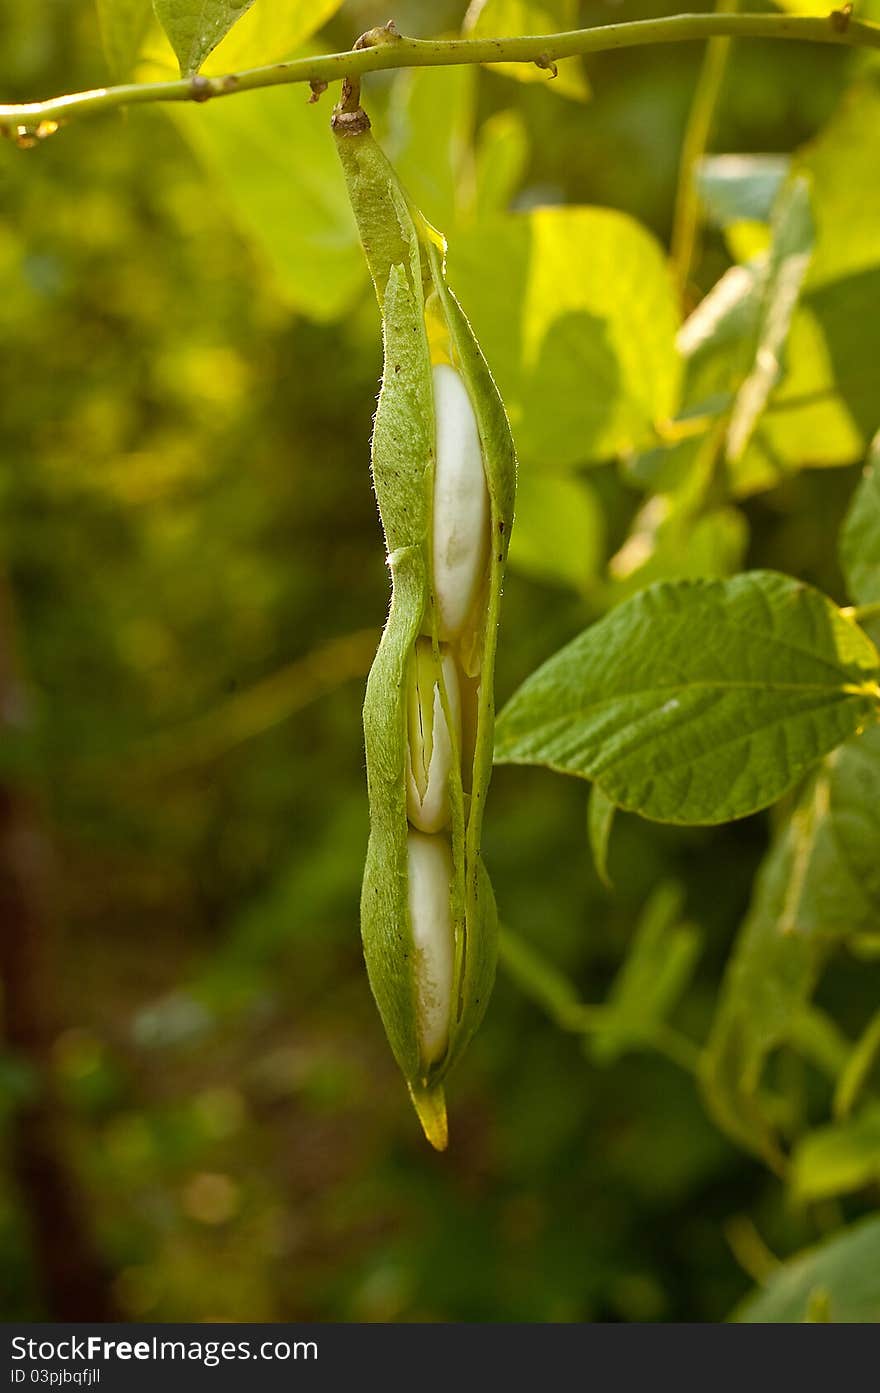
[[[742,458],[770,393],[783,372],[781,355],[806,276],[813,245],[813,220],[806,180],[783,189],[773,215],[773,240],[760,283],[755,352],[727,430],[727,454]]]

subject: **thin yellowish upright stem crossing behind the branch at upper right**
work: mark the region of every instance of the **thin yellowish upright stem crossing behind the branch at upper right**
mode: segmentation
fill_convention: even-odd
[[[717,0],[716,14],[734,14],[737,0]],[[696,91],[688,124],[681,145],[678,164],[678,189],[675,194],[675,216],[673,220],[673,270],[682,295],[691,280],[691,267],[696,255],[700,206],[696,191],[696,166],[706,153],[714,127],[718,98],[724,85],[730,38],[710,39],[706,45],[703,65],[696,81]]]

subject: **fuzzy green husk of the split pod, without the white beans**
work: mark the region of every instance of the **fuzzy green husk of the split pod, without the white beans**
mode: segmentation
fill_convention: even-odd
[[[480,857],[480,832],[492,775],[496,637],[517,465],[497,387],[446,281],[443,238],[408,203],[362,111],[337,117],[334,135],[382,309],[384,347],[372,472],[391,571],[391,605],[363,705],[370,837],[361,929],[388,1042],[427,1139],[443,1149],[444,1080],[483,1017],[497,961],[497,912]],[[439,667],[432,581],[432,366],[439,361],[457,369],[476,417],[490,501],[490,546],[473,617],[457,639],[471,723],[450,777],[454,988],[446,1050],[426,1064],[419,1048],[407,885],[407,681],[419,634],[432,637]]]

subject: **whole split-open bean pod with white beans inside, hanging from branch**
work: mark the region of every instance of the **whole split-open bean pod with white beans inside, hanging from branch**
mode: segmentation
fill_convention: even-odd
[[[515,456],[446,244],[412,209],[362,110],[336,143],[383,318],[372,472],[391,605],[363,706],[370,986],[432,1145],[444,1080],[486,1010],[497,914],[480,857]]]

